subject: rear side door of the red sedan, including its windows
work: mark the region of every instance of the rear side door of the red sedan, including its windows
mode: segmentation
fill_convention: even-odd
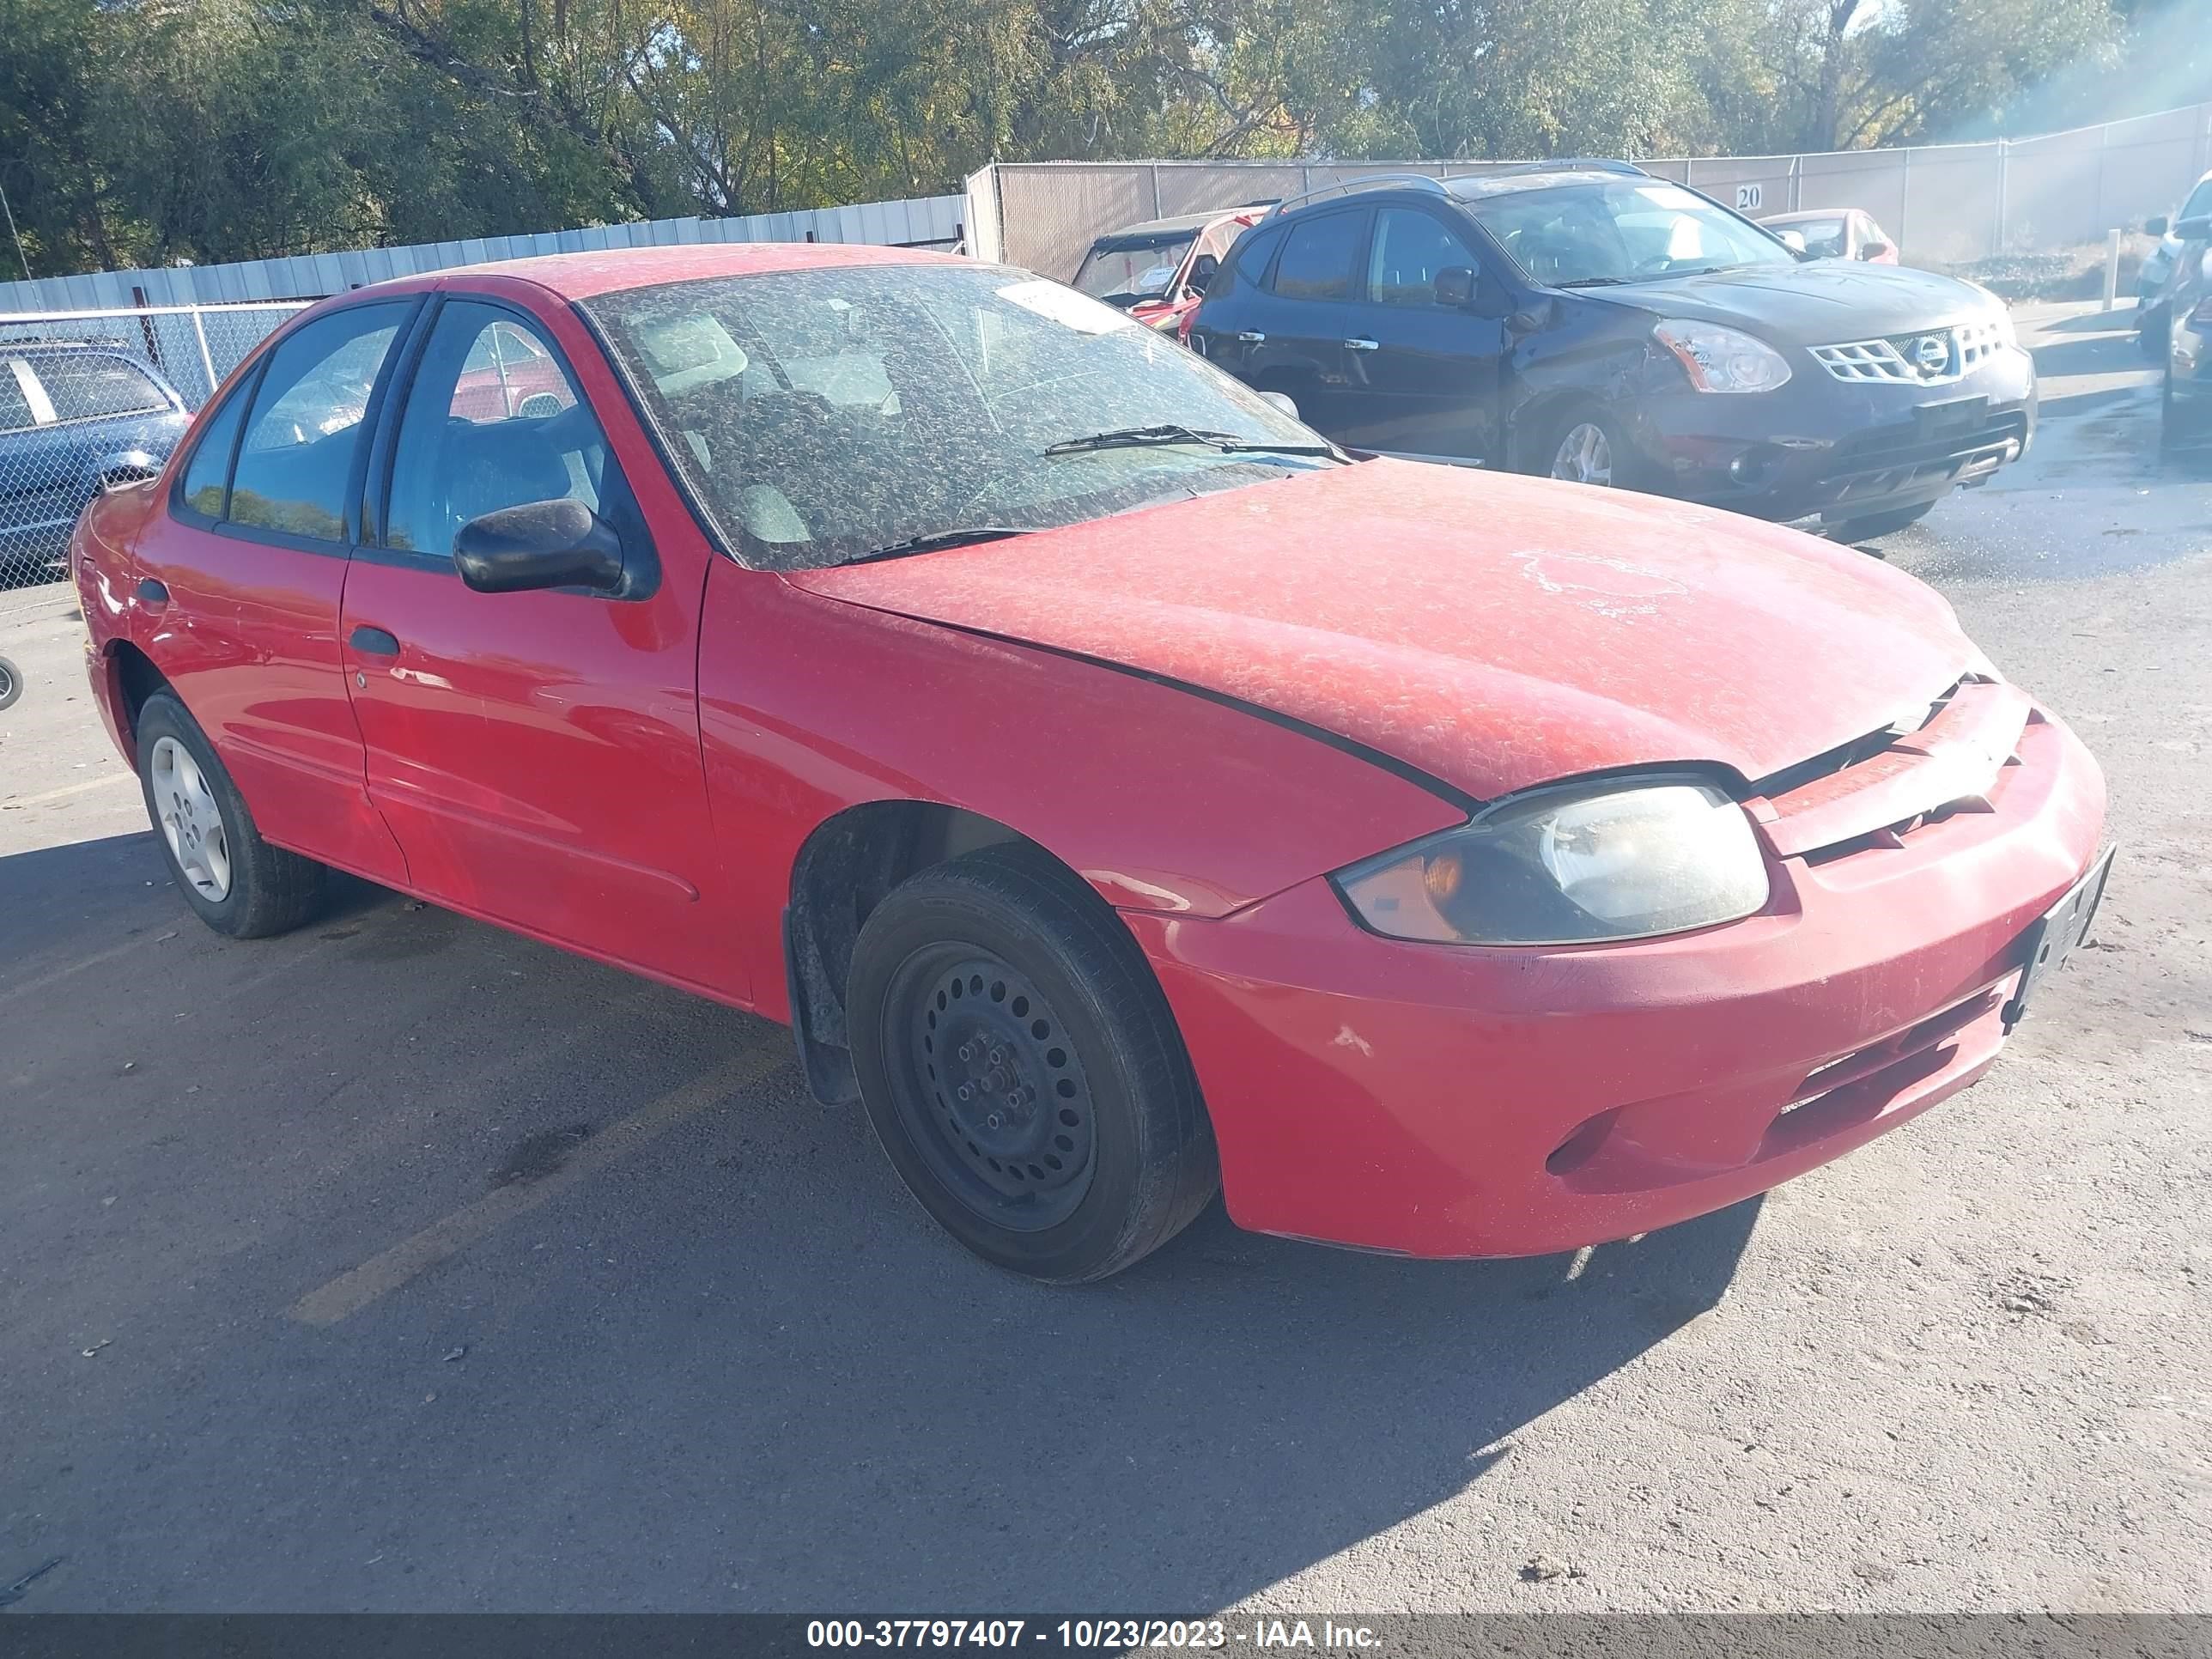
[[[201,422],[137,542],[133,641],[177,686],[270,841],[405,880],[363,787],[338,602],[365,436],[416,301],[292,330]]]

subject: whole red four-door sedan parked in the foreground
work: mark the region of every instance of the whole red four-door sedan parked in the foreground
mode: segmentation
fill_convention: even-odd
[[[500,330],[560,387],[489,407]],[[1761,1192],[1980,1077],[2108,867],[2095,761],[1911,577],[1354,460],[920,252],[332,299],[73,568],[210,927],[336,867],[790,1022],[1051,1281],[1217,1186],[1416,1256]]]

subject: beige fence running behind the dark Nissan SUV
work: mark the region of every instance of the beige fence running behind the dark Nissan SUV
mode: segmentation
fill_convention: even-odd
[[[1515,161],[1022,161],[967,181],[969,246],[1073,276],[1091,239],[1141,219],[1292,197],[1367,173],[1464,177]],[[2212,170],[2212,104],[1989,144],[1639,161],[1752,217],[1865,208],[1916,263],[2046,252],[2168,212]]]

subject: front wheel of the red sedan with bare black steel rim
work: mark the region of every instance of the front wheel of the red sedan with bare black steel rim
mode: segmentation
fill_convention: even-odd
[[[998,1267],[1106,1279],[1190,1225],[1221,1183],[1144,953],[1031,847],[984,847],[896,887],[860,927],[845,1006],[885,1155],[938,1225]]]

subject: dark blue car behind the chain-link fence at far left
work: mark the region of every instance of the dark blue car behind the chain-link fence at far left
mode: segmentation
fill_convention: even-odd
[[[0,338],[0,588],[62,575],[84,504],[161,471],[190,418],[126,345]]]

